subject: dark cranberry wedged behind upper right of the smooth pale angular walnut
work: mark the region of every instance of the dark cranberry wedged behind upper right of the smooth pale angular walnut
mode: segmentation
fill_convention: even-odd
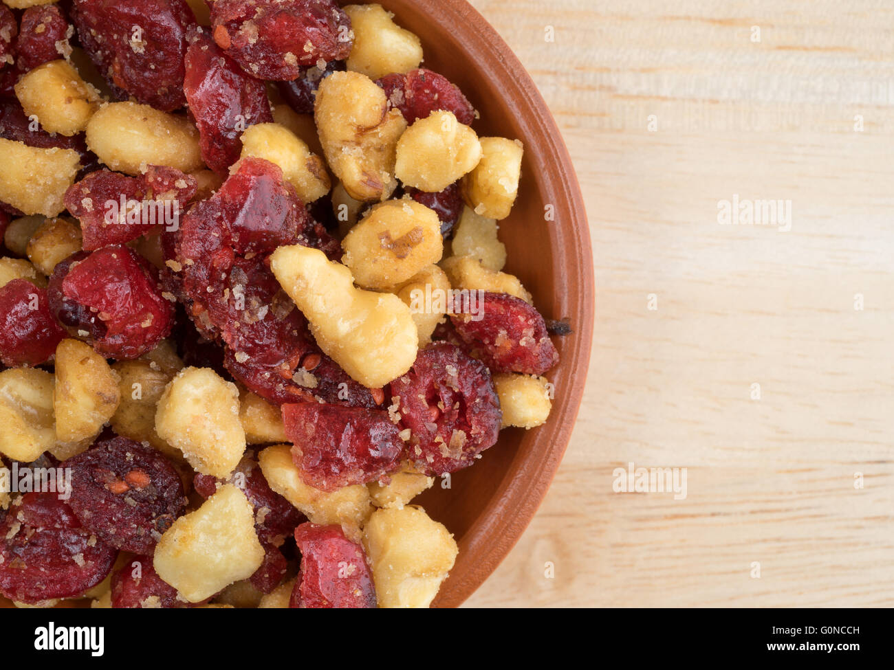
[[[304,516],[288,500],[270,488],[254,456],[244,456],[225,481],[197,474],[192,485],[200,496],[210,498],[223,483],[234,484],[249,498],[255,509],[257,537],[266,544],[279,547],[295,526],[304,521]]]

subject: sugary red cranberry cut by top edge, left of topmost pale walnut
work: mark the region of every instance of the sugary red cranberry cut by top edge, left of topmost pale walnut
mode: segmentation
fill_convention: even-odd
[[[350,19],[333,0],[215,0],[217,46],[262,80],[294,80],[302,66],[348,57]]]

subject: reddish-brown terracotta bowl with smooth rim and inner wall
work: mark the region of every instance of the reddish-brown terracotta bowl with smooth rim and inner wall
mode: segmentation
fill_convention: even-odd
[[[457,607],[493,573],[534,517],[565,453],[586,381],[593,339],[594,273],[589,227],[574,167],[534,82],[496,31],[464,0],[378,0],[422,39],[425,66],[457,84],[481,113],[479,136],[525,144],[519,200],[501,222],[507,272],[534,295],[546,318],[568,318],[554,338],[559,366],[549,421],[502,431],[481,460],[416,500],[444,523],[460,556],[433,607]],[[342,4],[350,4],[348,2]],[[546,221],[546,206],[554,216]],[[72,601],[65,607],[78,607]],[[2,607],[2,605],[0,605]]]

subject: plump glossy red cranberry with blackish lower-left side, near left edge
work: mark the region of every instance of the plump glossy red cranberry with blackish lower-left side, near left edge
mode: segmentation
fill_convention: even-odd
[[[131,359],[156,348],[173,326],[173,306],[157,272],[128,247],[78,252],[57,264],[50,310],[72,334],[107,358]]]

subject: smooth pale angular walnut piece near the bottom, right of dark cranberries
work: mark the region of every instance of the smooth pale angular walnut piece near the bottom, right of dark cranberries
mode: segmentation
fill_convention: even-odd
[[[248,579],[264,562],[248,498],[226,484],[158,540],[154,563],[164,582],[190,602]]]

